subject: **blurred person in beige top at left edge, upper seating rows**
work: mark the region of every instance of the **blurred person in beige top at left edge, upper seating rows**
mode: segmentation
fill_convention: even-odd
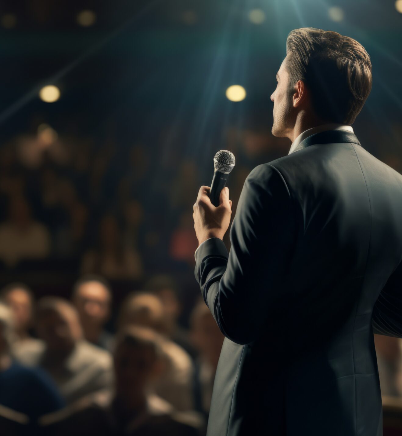
[[[49,252],[50,235],[46,227],[33,221],[24,198],[12,198],[9,219],[0,224],[0,259],[14,266],[21,259],[41,259]]]

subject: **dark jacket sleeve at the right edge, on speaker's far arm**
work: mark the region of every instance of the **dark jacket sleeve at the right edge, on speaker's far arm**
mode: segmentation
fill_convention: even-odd
[[[402,337],[402,262],[389,277],[375,302],[372,314],[374,333]]]

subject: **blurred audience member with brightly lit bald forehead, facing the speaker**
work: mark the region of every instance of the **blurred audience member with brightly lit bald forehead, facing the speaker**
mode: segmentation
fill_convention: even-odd
[[[109,284],[100,276],[84,276],[74,285],[72,301],[85,339],[108,351],[111,351],[113,336],[104,325],[110,317],[111,300]]]

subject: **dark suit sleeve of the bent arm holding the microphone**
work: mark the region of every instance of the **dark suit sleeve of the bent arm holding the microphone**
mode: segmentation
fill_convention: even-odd
[[[295,235],[288,187],[269,164],[248,175],[238,202],[228,253],[211,238],[196,253],[195,276],[221,332],[231,341],[254,341],[286,297],[283,281]]]

